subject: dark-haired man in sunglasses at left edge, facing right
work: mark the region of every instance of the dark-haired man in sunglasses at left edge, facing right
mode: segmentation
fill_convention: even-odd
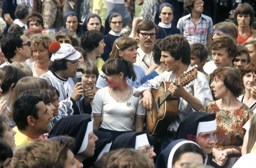
[[[0,68],[13,62],[25,62],[30,58],[30,46],[31,43],[23,32],[7,33],[1,39],[1,49],[7,61],[0,65]]]

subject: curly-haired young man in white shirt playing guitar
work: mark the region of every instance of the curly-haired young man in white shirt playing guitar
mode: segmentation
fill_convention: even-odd
[[[184,71],[192,69],[190,64],[190,46],[188,41],[182,35],[173,35],[164,38],[160,43],[162,51],[161,62],[164,64],[166,71],[154,79],[148,81],[148,87],[139,87],[135,91],[135,96],[143,95],[140,103],[147,110],[152,110],[153,97],[151,94],[152,87],[158,87],[162,81],[174,82],[181,77]],[[203,108],[207,102],[212,101],[211,90],[202,72],[197,73],[197,78],[193,83],[185,87],[177,87],[171,83],[169,87],[171,96],[179,98],[179,116],[177,120],[171,121],[165,137],[162,139],[162,149],[164,149],[173,140],[180,121],[187,114],[198,111]]]

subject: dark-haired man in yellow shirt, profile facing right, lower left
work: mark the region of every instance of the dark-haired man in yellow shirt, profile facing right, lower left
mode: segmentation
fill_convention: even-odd
[[[13,128],[16,146],[27,145],[49,132],[50,119],[43,99],[37,96],[21,96],[13,105]]]

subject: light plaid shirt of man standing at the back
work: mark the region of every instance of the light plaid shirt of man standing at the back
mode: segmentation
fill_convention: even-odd
[[[189,44],[202,43],[206,45],[207,35],[213,33],[213,23],[209,16],[201,14],[196,29],[191,14],[179,19],[177,28],[181,35],[185,36]]]

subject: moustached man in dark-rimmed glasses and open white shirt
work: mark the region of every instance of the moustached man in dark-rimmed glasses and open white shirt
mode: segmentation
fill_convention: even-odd
[[[157,33],[158,28],[151,20],[143,20],[136,29],[136,37],[140,41],[140,47],[137,49],[138,54],[134,64],[140,65],[146,74],[151,72],[147,71],[154,62],[152,48]]]

